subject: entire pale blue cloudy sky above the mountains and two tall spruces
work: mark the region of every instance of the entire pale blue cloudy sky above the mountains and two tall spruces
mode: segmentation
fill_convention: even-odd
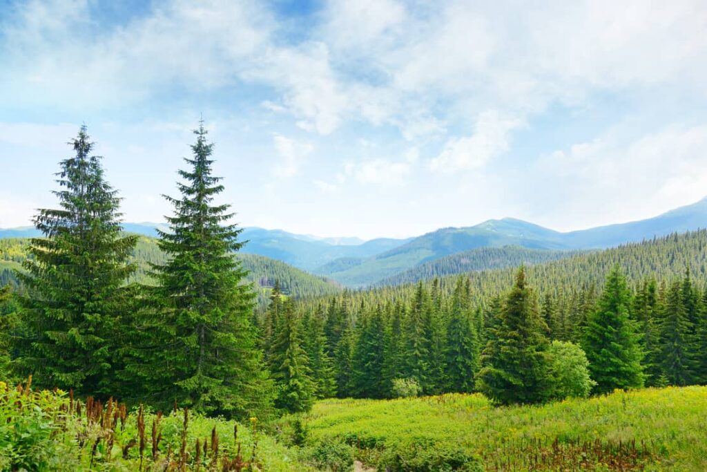
[[[81,124],[163,221],[203,117],[243,226],[569,231],[707,195],[703,0],[0,0],[0,228]]]

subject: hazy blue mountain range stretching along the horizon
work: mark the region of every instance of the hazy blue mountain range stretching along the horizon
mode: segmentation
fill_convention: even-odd
[[[165,226],[153,223],[126,223],[124,229],[146,236],[156,236],[156,229]],[[609,248],[655,236],[682,233],[707,228],[707,198],[692,205],[679,207],[657,217],[622,224],[598,226],[580,231],[560,232],[514,218],[491,219],[475,226],[443,228],[415,238],[320,238],[288,233],[279,229],[246,227],[241,235],[248,243],[243,253],[263,255],[281,260],[316,275],[323,275],[349,286],[365,287],[386,279],[395,279],[405,272],[404,280],[416,278],[410,271],[434,275],[434,267],[458,266],[460,270],[481,270],[484,265],[464,263],[477,261],[479,255],[469,253],[478,248],[509,248],[507,263],[518,263],[523,257],[534,260],[561,258],[576,250]],[[34,228],[0,229],[0,238],[38,236]],[[513,248],[553,251],[549,255],[524,253]],[[458,264],[450,260],[430,264],[441,258],[459,255]],[[520,259],[519,259],[520,258]],[[454,260],[454,258],[452,258]],[[481,259],[483,260],[483,258]],[[493,267],[500,267],[496,258]],[[489,267],[486,267],[489,268]]]

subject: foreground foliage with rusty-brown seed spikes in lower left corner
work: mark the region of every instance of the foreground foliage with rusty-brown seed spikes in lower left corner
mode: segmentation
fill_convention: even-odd
[[[315,470],[294,452],[260,432],[257,418],[243,425],[187,410],[129,412],[112,400],[0,381],[3,471]]]

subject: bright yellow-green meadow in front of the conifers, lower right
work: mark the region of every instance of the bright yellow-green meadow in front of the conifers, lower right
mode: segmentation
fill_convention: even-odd
[[[373,467],[432,471],[424,456],[440,454],[452,459],[438,470],[707,470],[707,387],[507,408],[475,394],[327,400],[303,421],[313,439],[353,444]]]

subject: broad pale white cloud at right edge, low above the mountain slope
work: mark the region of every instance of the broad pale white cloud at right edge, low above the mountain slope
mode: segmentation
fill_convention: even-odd
[[[670,125],[626,142],[617,128],[544,156],[526,198],[551,201],[560,229],[641,219],[707,195],[707,125]]]

